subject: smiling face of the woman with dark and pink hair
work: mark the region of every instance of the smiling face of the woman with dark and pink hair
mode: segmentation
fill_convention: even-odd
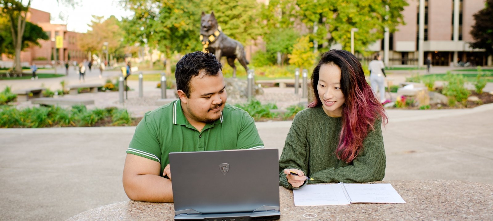
[[[337,65],[320,66],[317,90],[323,111],[331,117],[342,116],[344,94],[341,90],[341,69]]]

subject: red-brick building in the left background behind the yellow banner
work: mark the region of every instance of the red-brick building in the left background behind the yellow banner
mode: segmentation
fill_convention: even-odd
[[[21,52],[21,62],[23,66],[30,66],[32,62],[38,66],[52,64],[52,56],[55,58],[54,39],[56,36],[63,36],[64,39],[63,48],[57,49],[56,51],[56,60],[58,60],[59,63],[69,60],[69,55],[70,61],[77,61],[77,63],[87,59],[87,55],[77,46],[77,38],[81,33],[68,31],[67,25],[51,24],[50,13],[34,8],[29,9],[26,19],[43,28],[49,39],[39,40],[38,42],[41,47],[31,46]],[[6,55],[2,55],[1,58],[6,62],[12,61],[12,59],[7,58]],[[6,64],[6,62],[4,62],[5,66],[11,66],[11,64]]]

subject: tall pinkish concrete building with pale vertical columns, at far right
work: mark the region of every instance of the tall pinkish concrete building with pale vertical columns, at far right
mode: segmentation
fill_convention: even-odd
[[[387,65],[424,65],[427,57],[432,65],[491,66],[492,57],[484,50],[472,49],[470,34],[473,15],[485,7],[485,0],[407,0],[402,12],[405,25],[389,34]],[[422,21],[420,21],[422,19]],[[421,31],[421,36],[420,36]]]

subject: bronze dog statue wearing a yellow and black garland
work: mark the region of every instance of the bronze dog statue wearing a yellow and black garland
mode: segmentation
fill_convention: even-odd
[[[233,78],[236,78],[235,59],[237,58],[246,72],[248,72],[248,67],[246,65],[249,64],[249,62],[246,60],[243,45],[222,32],[221,27],[217,24],[214,12],[211,14],[202,12],[200,41],[204,46],[203,51],[208,50],[210,53],[216,55],[219,60],[221,59],[221,56],[227,58],[228,64],[233,67]]]

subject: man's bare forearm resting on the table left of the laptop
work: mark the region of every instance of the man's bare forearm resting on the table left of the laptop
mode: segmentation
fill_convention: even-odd
[[[123,188],[127,196],[135,201],[173,202],[171,180],[158,175],[124,177]]]

